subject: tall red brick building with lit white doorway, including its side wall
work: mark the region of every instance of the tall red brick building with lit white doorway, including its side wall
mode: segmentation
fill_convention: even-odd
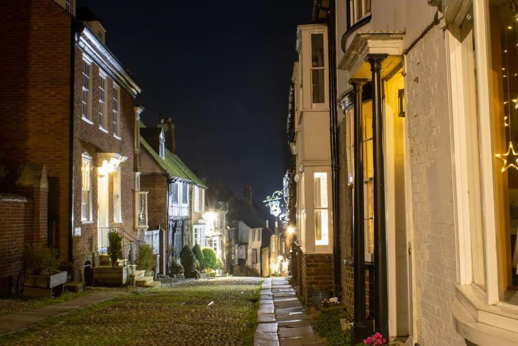
[[[48,243],[81,281],[83,266],[106,253],[110,229],[137,239],[147,221],[136,218],[146,209],[145,193],[137,200],[140,88],[99,20],[70,4],[3,3],[0,150],[5,191],[16,191],[21,165],[45,165]]]

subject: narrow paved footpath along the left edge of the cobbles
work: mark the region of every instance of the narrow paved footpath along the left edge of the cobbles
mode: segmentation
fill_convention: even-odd
[[[25,330],[34,324],[40,323],[52,317],[66,315],[72,311],[81,310],[110,300],[112,298],[128,295],[130,292],[103,291],[91,296],[75,298],[63,303],[48,305],[46,307],[25,310],[0,316],[0,336]]]

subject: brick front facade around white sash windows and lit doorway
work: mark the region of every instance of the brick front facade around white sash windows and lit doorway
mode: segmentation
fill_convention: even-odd
[[[91,119],[93,124],[84,121],[81,115],[81,90],[82,90],[82,52],[76,47],[75,63],[75,93],[74,93],[74,219],[77,220],[75,227],[81,227],[81,236],[74,237],[74,262],[77,270],[87,260],[95,260],[97,251],[97,169],[101,162],[98,162],[97,155],[100,153],[117,153],[126,156],[127,160],[121,163],[121,212],[122,223],[114,222],[113,214],[113,174],[108,177],[108,219],[110,227],[123,229],[131,237],[138,238],[135,230],[135,170],[134,170],[134,131],[135,112],[134,99],[122,86],[119,95],[120,113],[120,137],[113,136],[113,80],[106,77],[105,102],[107,110],[108,133],[99,129],[99,67],[95,61],[91,65],[92,81],[92,106]],[[92,172],[92,202],[93,202],[93,223],[81,222],[81,160],[82,153],[88,152],[93,160]],[[146,189],[141,188],[142,191]],[[62,237],[62,242],[66,238]],[[125,243],[127,243],[125,241]]]

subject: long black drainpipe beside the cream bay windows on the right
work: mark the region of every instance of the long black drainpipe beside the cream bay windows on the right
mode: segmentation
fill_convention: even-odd
[[[340,271],[340,208],[339,208],[339,164],[338,164],[338,115],[336,97],[336,12],[335,1],[329,0],[329,7],[322,7],[321,0],[316,1],[319,10],[327,12],[327,39],[329,60],[329,119],[331,137],[331,166],[333,182],[333,224],[334,224],[334,270],[335,270],[335,296],[341,298],[341,271]],[[318,16],[317,16],[318,17]]]

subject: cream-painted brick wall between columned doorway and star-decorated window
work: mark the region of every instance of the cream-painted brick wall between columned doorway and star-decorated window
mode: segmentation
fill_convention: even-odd
[[[457,274],[446,65],[440,25],[406,56],[414,309],[419,342],[427,346],[465,344],[451,314]]]

